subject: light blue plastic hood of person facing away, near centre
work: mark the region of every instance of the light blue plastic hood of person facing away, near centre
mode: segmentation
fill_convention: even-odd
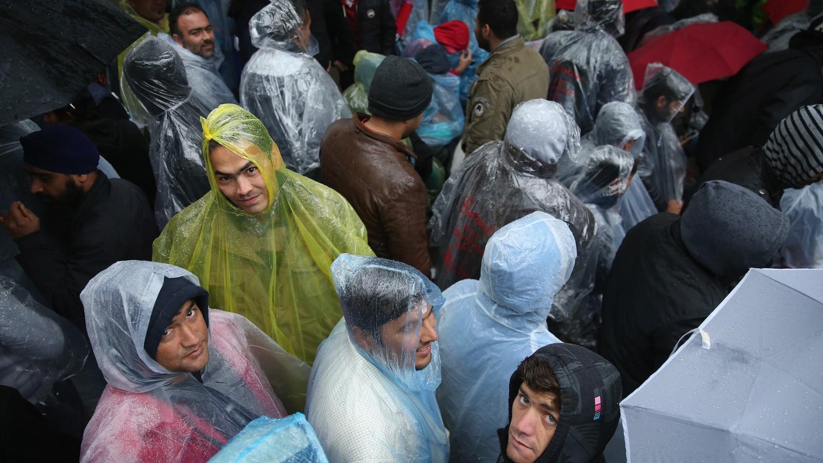
[[[510,316],[545,323],[576,258],[574,235],[565,222],[547,213],[530,213],[491,236],[481,263],[480,290],[507,307]]]

